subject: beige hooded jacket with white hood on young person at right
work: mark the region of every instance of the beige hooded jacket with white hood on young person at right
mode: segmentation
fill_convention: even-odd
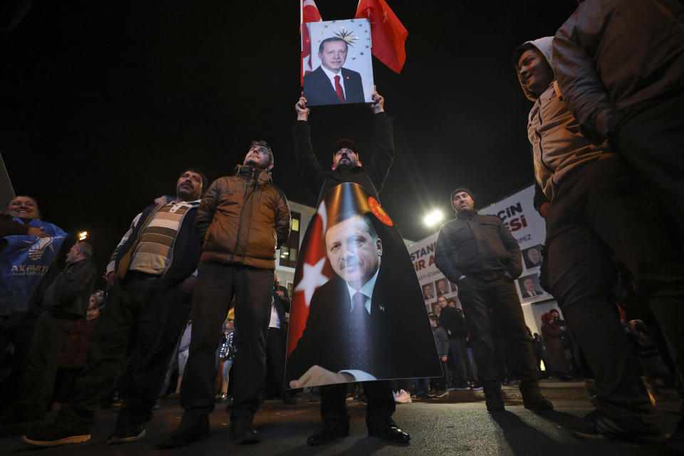
[[[551,68],[553,39],[551,36],[545,36],[527,41],[537,48]],[[607,145],[593,145],[581,135],[579,124],[565,105],[556,81],[537,97],[525,87],[522,76],[517,71],[517,59],[515,65],[525,96],[534,101],[527,118],[527,138],[532,145],[534,178],[546,199],[553,202],[563,180],[582,165],[608,153]],[[539,209],[537,198],[535,207]]]

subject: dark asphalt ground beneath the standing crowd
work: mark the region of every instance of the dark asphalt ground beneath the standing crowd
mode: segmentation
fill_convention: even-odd
[[[454,393],[454,392],[452,392]],[[586,394],[586,393],[585,393]],[[512,395],[511,395],[512,396]],[[14,455],[669,455],[665,445],[639,445],[610,440],[581,440],[571,435],[564,425],[569,420],[592,410],[585,398],[553,398],[556,410],[534,413],[522,406],[522,401],[507,398],[506,412],[490,414],[484,401],[453,403],[452,395],[445,400],[422,400],[398,404],[395,421],[411,435],[406,446],[385,445],[376,437],[368,437],[364,422],[364,405],[349,402],[351,430],[349,437],[331,445],[309,447],[306,436],[320,425],[318,403],[301,400],[286,405],[268,400],[255,418],[261,442],[255,445],[235,445],[230,438],[229,418],[222,403],[210,416],[208,437],[177,450],[157,450],[155,442],[180,423],[181,410],[177,400],[162,399],[155,417],[147,425],[147,436],[139,442],[125,445],[105,445],[115,425],[113,410],[100,410],[90,442],[35,449],[24,445],[19,437],[31,425],[4,426],[0,429],[0,453]],[[669,395],[659,400],[666,430],[674,429],[679,419],[679,401]],[[49,413],[49,423],[54,418]]]

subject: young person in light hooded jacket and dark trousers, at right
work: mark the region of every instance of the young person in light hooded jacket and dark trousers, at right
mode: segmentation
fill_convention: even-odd
[[[534,205],[546,220],[549,291],[596,375],[596,410],[586,423],[570,428],[580,437],[661,440],[663,420],[651,405],[606,291],[614,283],[615,264],[628,270],[634,289],[658,318],[673,359],[680,360],[681,236],[658,195],[625,157],[580,133],[581,124],[556,85],[555,39],[522,44],[513,63],[524,94],[534,101],[527,135],[537,181]]]

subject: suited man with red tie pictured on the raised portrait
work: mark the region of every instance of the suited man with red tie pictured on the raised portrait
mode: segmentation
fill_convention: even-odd
[[[361,74],[343,68],[349,45],[343,38],[333,36],[321,41],[318,58],[321,65],[304,76],[304,98],[306,104],[336,105],[363,103]]]

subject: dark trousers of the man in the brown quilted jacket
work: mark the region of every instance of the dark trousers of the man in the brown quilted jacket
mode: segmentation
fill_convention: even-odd
[[[271,318],[273,269],[202,261],[192,307],[190,356],[180,385],[183,421],[214,410],[216,350],[222,324],[235,298],[237,356],[231,380],[231,420],[251,423],[261,403],[266,378],[266,331]]]

